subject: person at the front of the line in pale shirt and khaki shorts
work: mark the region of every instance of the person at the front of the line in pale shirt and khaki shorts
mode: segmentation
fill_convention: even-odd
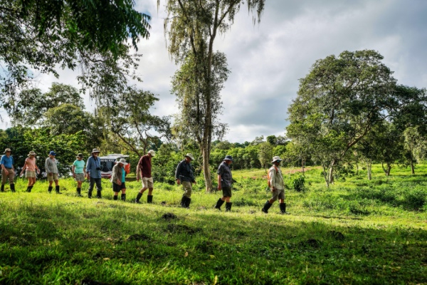
[[[263,209],[261,209],[265,214],[268,213],[268,209],[273,205],[273,203],[279,199],[280,212],[282,214],[289,214],[286,212],[285,204],[285,182],[283,181],[282,170],[280,170],[280,162],[282,159],[280,157],[273,157],[273,166],[268,170],[268,187],[270,187],[273,197],[265,202]]]

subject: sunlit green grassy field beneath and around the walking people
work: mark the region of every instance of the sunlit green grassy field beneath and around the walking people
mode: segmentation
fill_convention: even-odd
[[[0,283],[427,284],[427,165],[414,176],[373,171],[328,189],[309,170],[305,191],[287,192],[290,215],[278,204],[260,212],[264,170],[234,172],[232,212],[212,209],[220,194],[205,194],[200,179],[191,209],[171,185],[155,185],[154,204],[145,194],[134,204],[136,181],[120,202],[107,180],[102,199],[75,197],[70,179],[63,195],[46,182],[23,192],[19,180],[18,192],[0,193]]]

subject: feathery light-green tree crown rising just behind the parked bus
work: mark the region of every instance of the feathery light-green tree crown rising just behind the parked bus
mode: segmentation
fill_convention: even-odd
[[[152,143],[157,145],[160,138],[171,138],[169,117],[149,113],[157,100],[154,93],[129,88],[115,105],[98,108],[97,114],[105,118],[109,130],[125,142],[128,150],[141,157]],[[153,131],[158,135],[150,133]]]

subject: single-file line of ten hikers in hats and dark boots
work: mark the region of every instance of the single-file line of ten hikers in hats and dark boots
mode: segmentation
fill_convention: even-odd
[[[102,183],[101,183],[101,161],[99,157],[100,151],[96,148],[91,152],[88,162],[85,163],[83,160],[83,154],[79,153],[76,156],[71,172],[75,182],[77,182],[77,195],[81,195],[82,183],[85,178],[89,180],[88,198],[92,198],[93,188],[96,185],[97,198],[102,197]],[[143,155],[137,165],[137,182],[142,182],[142,188],[139,190],[135,203],[141,203],[140,199],[146,190],[148,190],[147,203],[153,201],[153,177],[152,177],[152,157],[156,155],[154,150],[149,150],[147,155]],[[175,171],[176,183],[182,185],[184,193],[181,198],[181,207],[189,208],[191,204],[191,192],[193,185],[196,184],[194,177],[193,168],[191,162],[194,160],[194,156],[191,153],[187,153],[184,156],[184,160],[179,162]],[[271,199],[268,199],[262,209],[263,212],[268,213],[268,209],[273,203],[279,200],[280,212],[282,214],[288,214],[286,212],[285,204],[285,182],[283,180],[282,171],[280,170],[280,157],[273,157],[273,164],[268,172],[268,186],[272,192]],[[233,175],[231,173],[230,165],[233,163],[233,157],[226,155],[223,162],[218,166],[218,190],[222,191],[222,197],[216,202],[215,208],[221,210],[221,206],[226,203],[226,212],[231,211],[231,189],[233,182]],[[120,199],[126,200],[126,182],[125,182],[125,166],[128,163],[125,158],[121,158],[112,167],[112,175],[110,182],[112,182],[112,191],[114,192],[113,199],[117,200],[119,193],[121,193]],[[11,156],[11,149],[6,148],[4,155],[1,156],[1,192],[4,192],[4,185],[9,180],[11,192],[15,192],[14,177],[14,157]],[[85,167],[86,166],[86,167]],[[56,152],[49,152],[48,158],[46,158],[45,169],[48,178],[48,192],[51,193],[53,190],[53,182],[55,182],[56,193],[61,194],[58,183],[58,160],[56,160]],[[36,183],[36,172],[40,173],[36,165],[36,152],[29,152],[28,157],[25,160],[23,168],[21,170],[21,176],[25,172],[25,176],[28,179],[28,186],[26,192],[31,192],[33,185]]]

